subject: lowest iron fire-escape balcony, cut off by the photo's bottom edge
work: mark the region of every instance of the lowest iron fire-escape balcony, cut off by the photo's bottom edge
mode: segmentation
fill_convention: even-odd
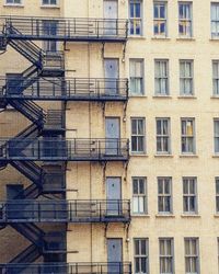
[[[2,274],[131,274],[130,262],[0,264]]]

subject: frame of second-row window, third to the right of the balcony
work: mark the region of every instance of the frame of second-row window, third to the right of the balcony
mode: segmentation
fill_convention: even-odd
[[[185,67],[186,64],[191,65],[191,76],[189,77],[183,77],[181,76],[181,65],[184,64],[184,75],[186,72]],[[181,82],[184,82],[184,92],[181,90]],[[185,93],[185,82],[191,81],[191,93]],[[194,60],[192,59],[180,59],[180,95],[181,96],[194,96]]]

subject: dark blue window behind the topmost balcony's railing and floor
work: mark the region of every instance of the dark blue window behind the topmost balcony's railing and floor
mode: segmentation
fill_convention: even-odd
[[[58,23],[56,21],[43,21],[43,34],[45,36],[56,36],[57,35]],[[45,41],[44,50],[56,52],[57,42],[56,41]]]

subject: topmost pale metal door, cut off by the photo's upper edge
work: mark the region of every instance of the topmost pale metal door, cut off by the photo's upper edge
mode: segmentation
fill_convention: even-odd
[[[117,0],[104,1],[104,34],[117,34],[118,2]]]

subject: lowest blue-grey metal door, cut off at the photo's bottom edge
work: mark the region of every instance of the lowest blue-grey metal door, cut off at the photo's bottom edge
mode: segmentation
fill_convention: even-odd
[[[107,239],[107,273],[122,274],[123,273],[123,240]]]

